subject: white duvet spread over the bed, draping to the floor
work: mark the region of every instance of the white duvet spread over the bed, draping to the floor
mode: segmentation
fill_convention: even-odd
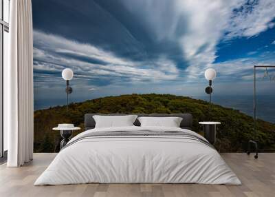
[[[89,132],[177,130],[175,127],[113,127]],[[200,138],[203,138],[199,136]],[[199,141],[177,137],[85,138],[54,158],[34,185],[78,183],[202,183],[241,185],[219,153]]]

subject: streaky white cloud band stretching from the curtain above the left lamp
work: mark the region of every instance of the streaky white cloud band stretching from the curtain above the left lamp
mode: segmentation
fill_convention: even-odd
[[[122,81],[132,83],[173,80],[177,78],[179,72],[175,63],[165,56],[153,61],[131,61],[93,45],[78,43],[37,30],[34,30],[34,43],[36,76],[41,76],[37,72],[61,73],[64,68],[72,68],[76,74],[74,79],[80,81],[97,79],[109,83]],[[91,63],[93,60],[98,63]]]

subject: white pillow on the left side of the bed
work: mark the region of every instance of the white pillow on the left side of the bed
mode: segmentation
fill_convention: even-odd
[[[100,116],[94,115],[96,121],[96,128],[102,127],[129,127],[134,126],[133,123],[137,118],[137,115],[125,115],[125,116]]]

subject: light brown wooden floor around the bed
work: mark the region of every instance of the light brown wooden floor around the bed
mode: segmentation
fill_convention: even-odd
[[[199,184],[85,184],[33,186],[56,154],[34,154],[32,163],[19,168],[0,166],[0,196],[275,196],[275,153],[221,154],[243,185]]]

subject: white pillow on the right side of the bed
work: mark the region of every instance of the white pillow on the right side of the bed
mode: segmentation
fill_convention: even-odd
[[[182,118],[179,117],[139,117],[141,127],[179,127]]]

